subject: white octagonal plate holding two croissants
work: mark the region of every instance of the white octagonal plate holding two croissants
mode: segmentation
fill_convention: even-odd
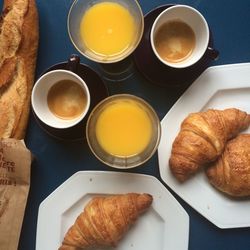
[[[214,66],[204,71],[161,121],[162,137],[158,149],[163,181],[220,228],[250,226],[250,199],[236,200],[223,195],[208,183],[204,172],[180,184],[171,174],[168,160],[180,124],[189,113],[230,107],[250,113],[250,63]]]

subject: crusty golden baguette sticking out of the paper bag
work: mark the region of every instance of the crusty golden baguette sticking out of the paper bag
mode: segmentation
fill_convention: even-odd
[[[0,138],[25,136],[38,37],[35,0],[5,0],[0,19]]]

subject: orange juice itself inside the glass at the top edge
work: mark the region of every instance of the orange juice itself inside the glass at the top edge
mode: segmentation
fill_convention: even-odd
[[[98,55],[121,54],[133,42],[135,20],[121,4],[100,2],[83,15],[80,36],[86,47]]]

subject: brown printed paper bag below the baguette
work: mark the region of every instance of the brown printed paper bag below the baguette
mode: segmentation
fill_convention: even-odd
[[[0,249],[16,250],[30,186],[31,153],[23,141],[0,140]]]

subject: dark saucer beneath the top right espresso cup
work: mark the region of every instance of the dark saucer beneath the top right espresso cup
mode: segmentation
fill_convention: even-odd
[[[210,51],[207,51],[197,63],[185,69],[174,69],[159,61],[150,44],[150,32],[156,17],[171,6],[174,4],[159,6],[144,16],[144,33],[134,51],[134,61],[142,75],[154,84],[165,87],[188,86],[209,66],[211,60],[217,59],[218,52],[215,51],[211,56]],[[208,47],[213,47],[211,31]]]

